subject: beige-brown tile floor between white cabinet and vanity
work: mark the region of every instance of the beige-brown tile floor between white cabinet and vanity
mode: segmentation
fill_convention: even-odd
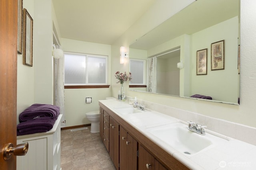
[[[116,170],[99,133],[61,131],[62,170]]]

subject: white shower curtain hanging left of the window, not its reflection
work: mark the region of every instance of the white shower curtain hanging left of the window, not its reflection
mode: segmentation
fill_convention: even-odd
[[[55,105],[60,107],[62,114],[61,127],[66,127],[65,120],[65,98],[64,98],[64,57],[60,46],[53,49],[54,57],[54,90],[55,90]]]

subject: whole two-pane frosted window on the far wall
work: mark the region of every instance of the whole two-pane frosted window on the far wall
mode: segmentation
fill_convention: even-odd
[[[107,61],[107,56],[64,53],[64,84],[107,84]]]

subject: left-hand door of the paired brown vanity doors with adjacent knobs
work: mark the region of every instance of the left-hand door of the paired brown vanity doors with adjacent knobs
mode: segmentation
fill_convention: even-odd
[[[119,135],[119,163],[120,170],[127,170],[127,132],[120,126],[120,135]]]

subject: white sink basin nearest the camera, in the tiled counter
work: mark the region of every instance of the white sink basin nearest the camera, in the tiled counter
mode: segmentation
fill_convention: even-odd
[[[148,129],[152,135],[170,147],[184,154],[195,154],[216,145],[228,142],[225,139],[206,133],[200,135],[188,130],[182,123],[173,123]]]

